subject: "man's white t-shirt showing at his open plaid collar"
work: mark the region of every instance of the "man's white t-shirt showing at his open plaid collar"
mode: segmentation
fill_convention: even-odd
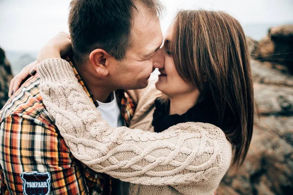
[[[116,93],[113,92],[112,101],[109,103],[103,103],[97,100],[99,106],[97,109],[101,112],[102,118],[108,121],[108,124],[112,127],[122,127],[124,126],[123,118],[121,115],[121,110],[117,103]]]

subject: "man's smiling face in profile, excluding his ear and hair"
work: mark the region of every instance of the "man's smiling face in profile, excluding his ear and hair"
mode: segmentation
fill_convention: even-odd
[[[116,61],[109,70],[118,89],[146,87],[154,68],[164,65],[160,49],[163,42],[160,20],[143,9],[133,16],[132,45],[126,52],[126,58]]]

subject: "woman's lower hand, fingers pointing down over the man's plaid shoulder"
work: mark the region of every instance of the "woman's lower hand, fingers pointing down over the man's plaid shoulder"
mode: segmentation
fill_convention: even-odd
[[[11,81],[8,91],[8,97],[10,98],[21,86],[25,80],[37,73],[38,61],[33,61],[32,63],[25,66],[19,74],[17,74]]]

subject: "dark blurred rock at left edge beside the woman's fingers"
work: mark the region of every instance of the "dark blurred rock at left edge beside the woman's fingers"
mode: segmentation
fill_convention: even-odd
[[[12,78],[10,64],[5,57],[4,50],[0,48],[0,109],[7,101],[9,84]]]

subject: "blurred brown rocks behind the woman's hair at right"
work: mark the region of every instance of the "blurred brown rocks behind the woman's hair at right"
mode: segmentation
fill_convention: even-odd
[[[259,117],[244,164],[230,167],[218,195],[291,195],[293,192],[293,25],[247,38]],[[258,60],[255,60],[258,59]],[[286,65],[286,66],[284,66]]]

